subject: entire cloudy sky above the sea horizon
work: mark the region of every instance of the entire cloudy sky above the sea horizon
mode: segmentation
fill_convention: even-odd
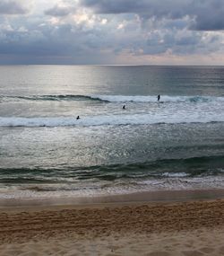
[[[0,0],[0,64],[224,65],[224,1]]]

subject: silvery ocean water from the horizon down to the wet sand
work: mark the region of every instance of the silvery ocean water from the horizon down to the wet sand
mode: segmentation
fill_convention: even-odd
[[[0,199],[220,188],[224,67],[0,66]]]

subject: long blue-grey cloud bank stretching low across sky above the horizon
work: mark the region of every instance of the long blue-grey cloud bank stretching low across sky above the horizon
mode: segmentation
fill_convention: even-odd
[[[117,29],[122,22],[124,27]],[[157,26],[151,22],[142,28],[133,16],[122,15],[110,21],[108,18],[107,25],[96,23],[90,28],[68,23],[39,26],[37,22],[27,24],[22,30],[20,26],[8,27],[6,23],[0,29],[0,62],[4,63],[3,56],[7,55],[13,61],[21,57],[22,63],[103,64],[111,63],[124,50],[137,57],[163,54],[168,50],[185,56],[220,49],[219,36],[204,41],[201,31],[186,30],[187,22],[163,19]]]

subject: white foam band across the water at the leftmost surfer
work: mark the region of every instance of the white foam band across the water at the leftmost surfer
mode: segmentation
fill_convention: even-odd
[[[66,126],[105,126],[105,125],[143,125],[158,123],[209,123],[224,122],[223,113],[204,113],[200,115],[198,112],[173,112],[159,113],[155,115],[149,114],[133,114],[133,115],[100,115],[86,116],[82,119],[75,118],[17,118],[8,117],[0,118],[1,127],[66,127]]]

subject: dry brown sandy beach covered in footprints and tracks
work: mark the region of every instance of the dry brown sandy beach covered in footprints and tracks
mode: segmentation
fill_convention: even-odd
[[[1,255],[224,255],[224,199],[2,207]]]

